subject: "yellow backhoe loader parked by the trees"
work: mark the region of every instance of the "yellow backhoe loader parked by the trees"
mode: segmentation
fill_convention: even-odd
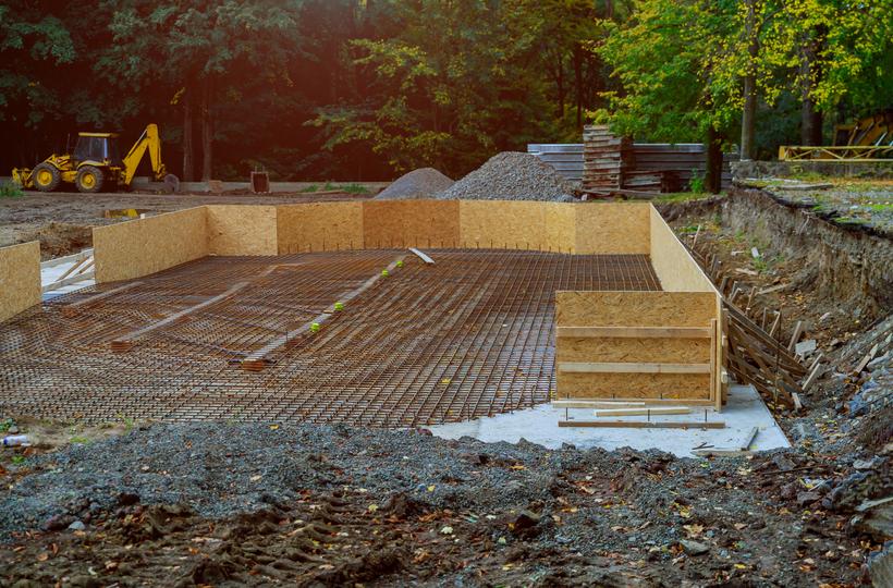
[[[32,169],[12,170],[12,181],[23,188],[52,192],[62,182],[74,184],[78,192],[95,194],[103,188],[114,192],[130,188],[143,156],[149,152],[152,176],[176,192],[180,181],[169,174],[161,162],[161,139],[158,126],[149,124],[139,139],[121,158],[115,133],[78,133],[74,152],[51,155]]]

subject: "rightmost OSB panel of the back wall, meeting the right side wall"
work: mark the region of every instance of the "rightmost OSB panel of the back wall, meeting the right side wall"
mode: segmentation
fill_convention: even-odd
[[[650,253],[650,204],[591,203],[575,205],[574,208],[575,254]]]

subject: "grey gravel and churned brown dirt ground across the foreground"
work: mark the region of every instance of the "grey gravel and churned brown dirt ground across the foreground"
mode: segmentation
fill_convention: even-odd
[[[847,518],[889,470],[881,460],[851,488],[837,467],[796,451],[708,462],[343,426],[152,425],[9,467],[0,578],[856,583],[877,546]],[[821,481],[815,495],[804,479]]]

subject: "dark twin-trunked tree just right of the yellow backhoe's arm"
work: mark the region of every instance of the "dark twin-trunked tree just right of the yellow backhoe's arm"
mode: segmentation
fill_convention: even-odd
[[[98,68],[119,87],[160,83],[174,102],[182,99],[186,174],[192,171],[192,115],[197,108],[201,179],[207,181],[213,176],[215,114],[234,96],[230,82],[244,81],[250,72],[269,90],[292,85],[288,65],[299,51],[295,33],[301,5],[298,0],[126,2],[114,12],[109,25],[113,45]]]

